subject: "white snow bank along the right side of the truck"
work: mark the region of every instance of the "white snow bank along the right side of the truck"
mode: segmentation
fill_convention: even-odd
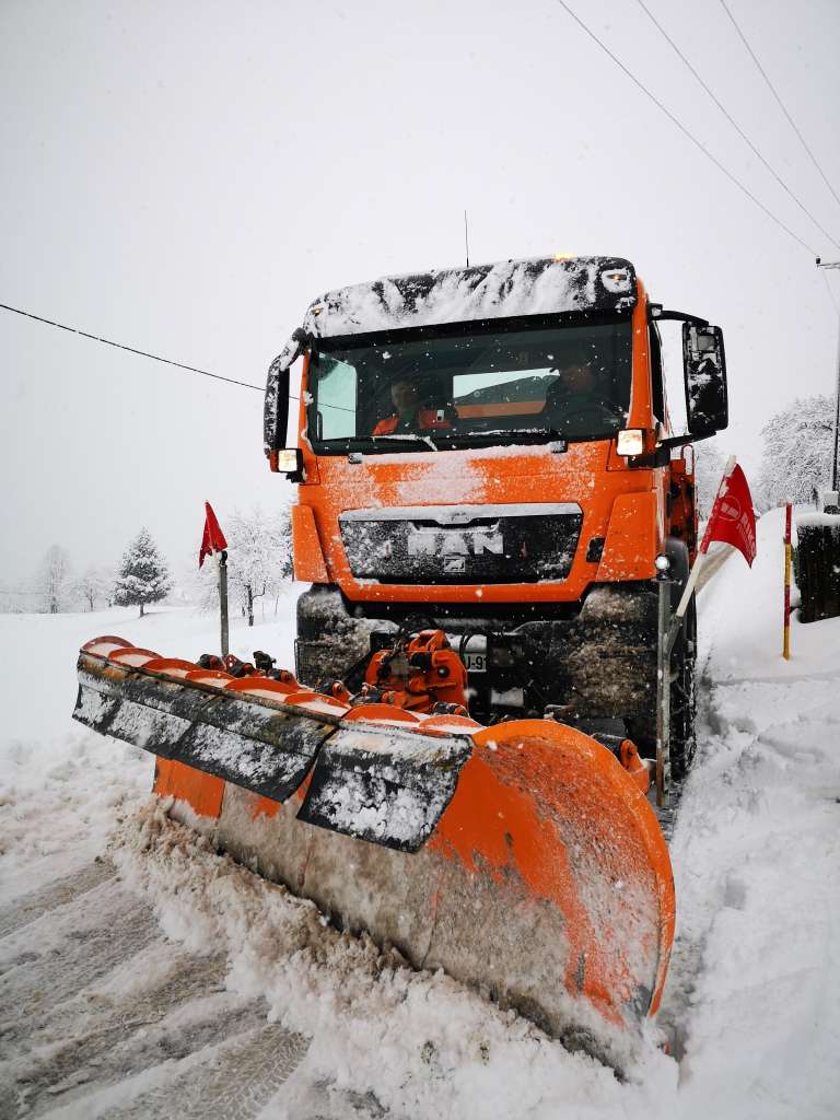
[[[840,1094],[840,629],[782,646],[783,511],[700,600],[704,730],[672,844],[664,1016],[685,1118],[834,1117]]]

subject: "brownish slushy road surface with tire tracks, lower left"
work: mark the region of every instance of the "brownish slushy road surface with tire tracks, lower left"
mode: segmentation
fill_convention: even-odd
[[[3,915],[0,1120],[181,1120],[206,1117],[209,1101],[220,1120],[256,1116],[308,1039],[267,1025],[262,1000],[224,991],[226,956],[164,940],[151,907],[113,875],[110,862],[88,865]],[[138,1092],[114,1111],[113,1093],[121,1109]]]

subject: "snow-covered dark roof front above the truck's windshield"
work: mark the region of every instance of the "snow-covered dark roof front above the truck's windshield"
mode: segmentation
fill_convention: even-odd
[[[636,274],[618,256],[533,258],[336,288],[310,304],[304,329],[317,338],[470,319],[569,311],[629,311]]]

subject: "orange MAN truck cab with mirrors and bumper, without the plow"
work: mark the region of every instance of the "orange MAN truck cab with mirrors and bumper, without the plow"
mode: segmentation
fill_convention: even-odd
[[[682,321],[679,435],[661,319]],[[678,594],[697,540],[691,444],[726,424],[720,329],[652,304],[619,258],[325,293],[265,396],[271,469],[298,484],[296,578],[312,585],[298,676],[352,673],[389,631],[435,625],[467,662],[477,718],[586,711],[650,741],[656,560]],[[675,657],[692,691],[690,633]]]

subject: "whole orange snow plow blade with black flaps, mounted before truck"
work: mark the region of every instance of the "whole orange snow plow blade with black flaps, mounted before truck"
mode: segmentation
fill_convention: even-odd
[[[83,646],[74,717],[158,756],[174,815],[417,968],[606,1056],[653,1014],[673,937],[640,786],[573,728],[491,728]],[[308,781],[307,781],[308,778]],[[360,842],[371,841],[371,842]]]

